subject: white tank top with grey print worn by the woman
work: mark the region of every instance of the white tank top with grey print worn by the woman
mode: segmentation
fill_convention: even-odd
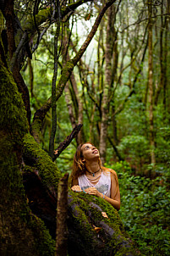
[[[104,193],[108,198],[111,196],[111,175],[110,172],[101,172],[101,177],[96,185],[90,183],[86,175],[81,175],[78,177],[79,186],[82,190],[88,187],[96,187],[98,192]]]

